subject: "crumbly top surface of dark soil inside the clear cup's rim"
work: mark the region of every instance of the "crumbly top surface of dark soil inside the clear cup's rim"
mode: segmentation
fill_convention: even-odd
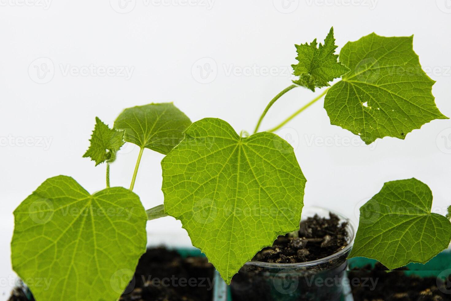
[[[330,213],[329,218],[315,215],[300,223],[299,231],[279,236],[271,247],[258,252],[253,260],[290,264],[321,259],[347,245],[346,222]]]

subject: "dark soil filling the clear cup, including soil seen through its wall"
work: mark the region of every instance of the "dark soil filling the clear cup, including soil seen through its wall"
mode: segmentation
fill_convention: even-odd
[[[273,245],[258,252],[253,260],[267,263],[302,263],[321,259],[348,245],[347,223],[330,213],[307,218],[299,231],[279,236]],[[308,270],[282,271],[258,265],[245,265],[230,285],[234,301],[334,301],[340,300],[341,287],[317,286],[315,281],[341,278],[346,267],[346,254]]]

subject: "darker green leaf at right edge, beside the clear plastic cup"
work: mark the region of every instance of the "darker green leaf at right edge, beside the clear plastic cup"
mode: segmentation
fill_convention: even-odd
[[[414,178],[391,181],[360,208],[350,257],[379,260],[389,269],[426,263],[451,240],[451,222],[431,213],[432,192]]]

